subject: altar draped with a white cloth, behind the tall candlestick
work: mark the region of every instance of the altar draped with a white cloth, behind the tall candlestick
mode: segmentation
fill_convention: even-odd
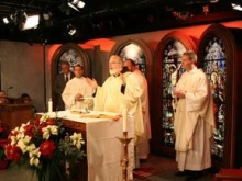
[[[50,114],[50,113],[48,113]],[[122,137],[122,118],[113,121],[114,113],[92,112],[90,117],[70,111],[51,113],[51,117],[59,117],[66,128],[81,132],[87,146],[87,180],[88,181],[121,181],[122,180],[122,144],[117,137]],[[96,116],[97,115],[97,116]],[[101,118],[98,115],[108,115]],[[92,117],[91,117],[92,116]],[[134,137],[133,117],[128,117],[129,137]],[[132,179],[134,163],[134,143],[129,144],[129,176]],[[84,167],[80,167],[84,168]],[[79,170],[85,171],[85,170]],[[82,180],[81,180],[82,181]]]

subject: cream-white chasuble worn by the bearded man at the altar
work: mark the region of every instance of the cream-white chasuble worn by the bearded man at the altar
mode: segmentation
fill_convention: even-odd
[[[141,89],[131,79],[132,73],[123,75],[127,80],[124,94],[121,92],[123,80],[121,77],[110,76],[102,87],[98,87],[95,97],[95,111],[116,112],[122,114],[123,108],[128,109],[128,114],[134,116],[134,134],[144,137],[144,125],[141,105]]]

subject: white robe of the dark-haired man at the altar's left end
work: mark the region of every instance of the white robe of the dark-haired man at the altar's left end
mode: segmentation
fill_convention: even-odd
[[[90,99],[92,97],[94,90],[87,83],[87,79],[85,77],[75,77],[66,83],[62,94],[66,110],[84,109],[84,101],[75,101],[75,98],[78,93],[80,93],[84,98],[88,98],[85,100],[85,102],[89,108],[94,105],[94,100]]]

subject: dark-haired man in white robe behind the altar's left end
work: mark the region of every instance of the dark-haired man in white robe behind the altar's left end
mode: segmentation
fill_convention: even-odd
[[[94,105],[92,88],[87,83],[84,75],[84,67],[74,67],[75,78],[66,83],[62,98],[66,110],[91,109]],[[88,108],[87,108],[88,106]]]

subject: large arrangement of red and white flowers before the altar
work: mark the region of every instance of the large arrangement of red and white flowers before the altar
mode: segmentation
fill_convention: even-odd
[[[44,114],[11,131],[6,155],[33,169],[38,181],[63,180],[66,162],[74,165],[85,157],[84,144],[80,133],[69,136],[58,118]]]

